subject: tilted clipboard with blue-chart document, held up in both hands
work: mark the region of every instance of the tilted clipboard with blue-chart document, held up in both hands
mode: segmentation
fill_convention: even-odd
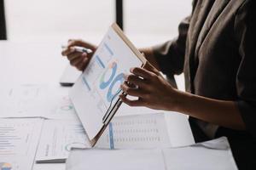
[[[146,59],[125,37],[119,26],[110,26],[90,59],[89,65],[70,90],[70,98],[94,146],[121,105],[120,84],[131,67],[145,65]]]

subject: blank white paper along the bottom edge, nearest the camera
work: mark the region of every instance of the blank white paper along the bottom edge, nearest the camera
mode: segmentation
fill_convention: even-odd
[[[217,148],[223,144],[229,146],[226,138],[213,143],[218,145]],[[73,150],[67,159],[66,169],[234,170],[237,167],[230,147],[225,150],[212,150],[207,147],[187,146],[154,150]]]

